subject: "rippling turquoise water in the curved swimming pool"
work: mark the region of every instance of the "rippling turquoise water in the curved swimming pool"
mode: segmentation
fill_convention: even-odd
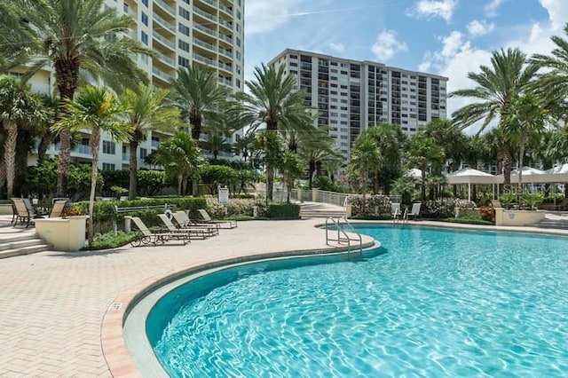
[[[162,366],[172,376],[568,374],[568,239],[359,232],[382,253],[250,265],[163,297],[146,323]]]

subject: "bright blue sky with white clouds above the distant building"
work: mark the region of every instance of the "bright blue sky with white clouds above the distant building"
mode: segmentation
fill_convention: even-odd
[[[248,80],[291,48],[444,75],[454,91],[494,50],[549,53],[568,0],[245,0],[245,15]],[[466,103],[450,98],[448,116]]]

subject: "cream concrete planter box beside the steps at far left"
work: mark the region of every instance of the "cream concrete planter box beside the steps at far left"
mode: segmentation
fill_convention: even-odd
[[[78,251],[85,246],[85,227],[89,216],[35,219],[36,233],[56,251]]]

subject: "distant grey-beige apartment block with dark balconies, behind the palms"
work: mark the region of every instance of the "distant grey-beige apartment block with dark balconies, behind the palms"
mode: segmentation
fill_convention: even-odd
[[[305,105],[318,109],[317,125],[329,128],[346,159],[359,133],[373,125],[398,124],[412,135],[433,119],[446,119],[443,76],[290,49],[268,65],[296,75],[297,89],[308,92]]]

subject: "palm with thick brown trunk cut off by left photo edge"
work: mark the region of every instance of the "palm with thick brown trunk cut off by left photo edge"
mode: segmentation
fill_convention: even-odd
[[[13,76],[0,76],[0,122],[4,126],[4,164],[8,198],[12,197],[16,175],[18,128],[42,122],[45,114],[41,109],[41,102],[29,92],[27,86]]]

